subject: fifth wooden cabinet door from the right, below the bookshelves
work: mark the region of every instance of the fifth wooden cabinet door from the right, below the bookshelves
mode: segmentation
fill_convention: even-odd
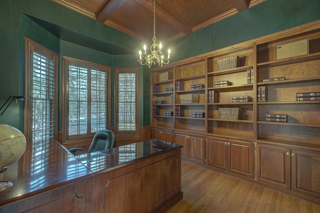
[[[188,134],[190,160],[204,163],[204,139],[204,136]]]

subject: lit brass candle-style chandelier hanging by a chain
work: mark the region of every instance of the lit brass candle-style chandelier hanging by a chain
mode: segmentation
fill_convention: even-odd
[[[168,49],[168,57],[164,59],[162,54],[162,43],[160,41],[159,45],[156,43],[155,38],[155,0],[153,0],[153,43],[150,46],[151,54],[146,54],[146,45],[143,44],[143,54],[142,51],[139,50],[139,59],[141,65],[147,64],[149,68],[152,64],[158,63],[159,66],[162,67],[163,63],[168,64],[170,60],[171,49]]]

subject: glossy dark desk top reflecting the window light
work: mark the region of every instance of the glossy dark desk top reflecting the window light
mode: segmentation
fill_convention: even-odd
[[[13,186],[0,193],[0,207],[55,187],[94,176],[93,172],[181,147],[161,140],[146,140],[78,156],[57,141],[43,142],[25,151],[21,158],[0,173],[1,181]]]

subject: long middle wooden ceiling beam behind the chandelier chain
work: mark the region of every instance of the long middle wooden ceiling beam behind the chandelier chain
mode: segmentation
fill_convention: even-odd
[[[145,0],[135,0],[140,5],[144,6],[153,13],[153,2]],[[146,3],[147,2],[147,3]],[[166,7],[162,2],[155,2],[155,14],[162,20],[175,27],[184,34],[190,34],[192,27],[187,24],[183,19],[177,16],[172,10]]]

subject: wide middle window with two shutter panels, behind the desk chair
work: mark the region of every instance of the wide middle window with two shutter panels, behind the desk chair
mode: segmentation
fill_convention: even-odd
[[[109,128],[109,67],[62,57],[64,139],[91,137]]]

